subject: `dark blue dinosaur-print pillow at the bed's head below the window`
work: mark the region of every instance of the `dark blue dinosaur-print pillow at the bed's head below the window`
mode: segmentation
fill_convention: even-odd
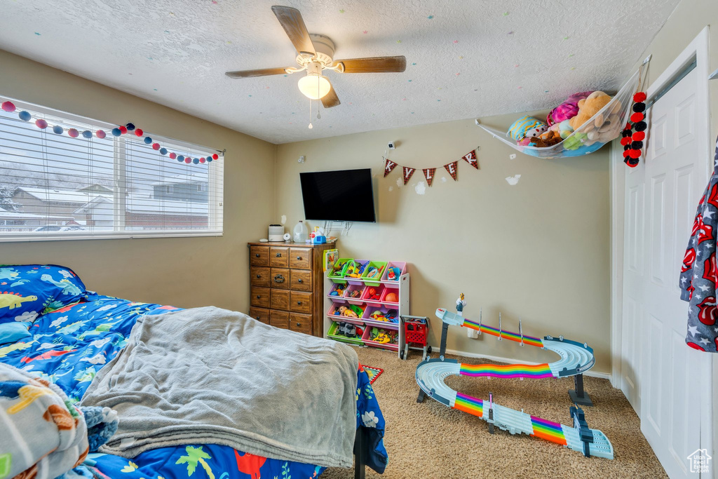
[[[0,266],[0,323],[32,322],[39,315],[85,297],[85,284],[70,268],[43,264]]]

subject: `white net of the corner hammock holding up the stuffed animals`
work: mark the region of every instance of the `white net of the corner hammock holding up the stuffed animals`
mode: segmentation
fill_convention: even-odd
[[[640,72],[641,70],[639,69],[634,73],[600,111],[575,129],[563,141],[551,147],[540,148],[516,144],[516,141],[508,136],[505,130],[485,126],[478,121],[477,125],[488,131],[495,139],[499,139],[508,144],[508,146],[532,157],[566,158],[590,154],[620,136],[631,113],[633,93],[638,90],[640,83]]]

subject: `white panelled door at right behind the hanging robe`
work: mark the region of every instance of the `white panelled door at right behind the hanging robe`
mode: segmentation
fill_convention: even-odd
[[[696,70],[648,111],[645,158],[625,174],[621,386],[641,431],[671,478],[696,478],[687,456],[701,447],[711,355],[685,343],[688,303],[679,273],[696,206],[708,182],[696,105]],[[708,402],[707,402],[708,401]],[[704,475],[704,477],[708,477]]]

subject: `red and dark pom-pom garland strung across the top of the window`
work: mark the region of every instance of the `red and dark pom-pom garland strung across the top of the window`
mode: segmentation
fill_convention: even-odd
[[[11,101],[4,101],[4,102],[0,103],[0,108],[2,109],[2,111],[6,111],[7,113],[17,112],[17,116],[21,121],[29,122],[29,121],[34,120],[35,126],[37,126],[37,128],[39,128],[39,129],[44,130],[44,129],[47,129],[48,127],[50,127],[52,132],[57,135],[62,135],[62,134],[67,133],[67,136],[70,136],[70,138],[78,138],[80,135],[82,135],[82,137],[84,139],[92,139],[92,137],[93,137],[92,130],[78,131],[78,129],[75,129],[75,128],[65,129],[60,125],[47,124],[47,121],[44,118],[37,118],[37,117],[33,118],[32,113],[30,113],[29,111],[24,111],[24,110],[18,111],[17,106],[15,106],[15,104],[12,103]],[[638,127],[637,127],[637,129],[638,129]],[[644,123],[643,129],[645,129],[645,123]],[[185,164],[205,164],[205,163],[211,163],[214,160],[219,159],[219,155],[216,153],[208,155],[206,157],[193,158],[193,157],[185,157],[185,155],[177,154],[175,152],[170,152],[167,148],[162,147],[162,145],[159,144],[157,141],[153,141],[151,139],[151,137],[144,136],[144,131],[137,128],[132,123],[127,123],[125,125],[117,126],[116,128],[111,129],[110,133],[113,136],[122,136],[123,134],[128,134],[128,133],[134,134],[135,136],[138,136],[139,138],[143,139],[145,144],[151,145],[152,149],[159,152],[159,154],[162,154],[164,156],[169,156],[170,159],[176,159],[177,162],[180,162],[180,163],[184,162]],[[102,129],[96,130],[94,134],[98,139],[105,139],[107,137],[106,131],[104,131]],[[640,138],[639,138],[638,134],[639,133],[637,132],[636,133],[637,137],[635,137],[633,139],[634,142],[642,141],[643,137],[645,136],[645,134],[641,133],[643,136],[640,136]]]

